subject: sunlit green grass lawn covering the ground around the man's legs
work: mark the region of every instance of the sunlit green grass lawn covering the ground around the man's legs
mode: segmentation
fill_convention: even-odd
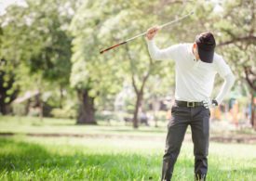
[[[1,132],[19,130],[21,133],[34,131],[21,121],[4,123],[0,121]],[[54,121],[53,121],[54,122]],[[31,122],[29,122],[31,123]],[[62,123],[62,122],[61,122]],[[53,123],[54,124],[54,123]],[[7,125],[5,127],[5,125]],[[3,127],[4,126],[4,127]],[[49,124],[36,125],[40,133],[47,133]],[[35,127],[36,127],[35,126]],[[68,125],[55,124],[53,130],[64,133]],[[0,136],[0,180],[159,180],[161,160],[164,151],[164,139],[140,139],[140,136],[164,135],[165,130],[151,133],[125,131],[129,136],[120,136],[124,132],[101,126],[76,126],[77,132],[99,132],[115,137],[70,137],[70,136]],[[77,130],[76,130],[77,129]],[[123,127],[122,129],[125,129]],[[128,129],[128,128],[127,128]],[[148,131],[145,131],[147,130]],[[51,131],[53,131],[51,130]],[[18,133],[19,133],[18,131]],[[35,131],[34,131],[35,132]],[[222,144],[210,142],[209,175],[212,181],[255,181],[256,145]],[[193,144],[184,141],[174,170],[174,181],[194,180]]]

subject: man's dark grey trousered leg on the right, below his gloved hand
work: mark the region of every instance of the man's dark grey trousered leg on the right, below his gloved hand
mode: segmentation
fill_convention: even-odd
[[[195,180],[205,180],[208,171],[209,110],[196,108],[191,122],[195,155]]]

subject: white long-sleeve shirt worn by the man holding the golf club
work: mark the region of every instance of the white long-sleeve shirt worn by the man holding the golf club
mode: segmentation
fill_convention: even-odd
[[[156,60],[173,59],[175,61],[175,99],[200,102],[209,98],[213,89],[216,73],[224,79],[221,92],[216,97],[220,104],[223,97],[234,84],[235,77],[222,56],[214,53],[212,63],[196,61],[192,52],[193,44],[171,45],[159,49],[154,40],[147,41],[151,58]]]

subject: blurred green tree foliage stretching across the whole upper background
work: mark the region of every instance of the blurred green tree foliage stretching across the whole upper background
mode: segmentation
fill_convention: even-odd
[[[88,89],[98,110],[113,110],[115,95],[123,83],[132,84],[133,75],[136,85],[141,87],[149,71],[144,97],[150,100],[153,96],[172,94],[174,64],[152,62],[144,37],[103,55],[99,52],[192,10],[195,15],[161,30],[155,37],[156,45],[164,48],[193,42],[195,34],[211,31],[219,45],[217,52],[231,65],[237,78],[243,80],[244,66],[256,67],[255,3],[253,0],[218,3],[27,0],[27,6],[9,6],[7,14],[0,17],[0,58],[6,59],[0,64],[3,86],[14,76],[15,83],[8,95],[17,87],[21,90],[39,87],[43,92],[53,90],[52,95],[56,96],[57,89],[68,89],[71,84],[74,90]],[[217,85],[221,83],[219,79]],[[59,99],[51,97],[49,102],[55,107]]]

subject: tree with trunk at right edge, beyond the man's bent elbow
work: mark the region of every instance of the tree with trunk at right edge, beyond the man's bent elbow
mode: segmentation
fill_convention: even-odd
[[[232,60],[238,82],[246,82],[250,89],[251,124],[256,129],[255,119],[255,1],[225,1],[223,13],[215,27],[222,33],[219,44],[223,55]]]

